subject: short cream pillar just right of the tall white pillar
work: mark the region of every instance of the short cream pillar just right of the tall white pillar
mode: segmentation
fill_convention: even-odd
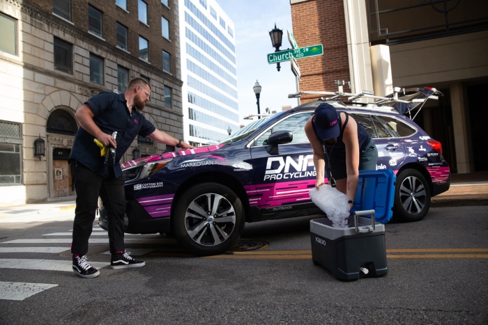
[[[390,47],[374,45],[369,47],[369,55],[371,57],[374,95],[385,96],[393,93]]]

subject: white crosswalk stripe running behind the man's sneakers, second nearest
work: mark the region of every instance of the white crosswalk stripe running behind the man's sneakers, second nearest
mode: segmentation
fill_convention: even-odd
[[[96,269],[109,265],[109,262],[89,262]],[[28,258],[0,258],[0,268],[3,269],[29,269],[44,271],[73,271],[73,262],[68,260],[34,260]]]

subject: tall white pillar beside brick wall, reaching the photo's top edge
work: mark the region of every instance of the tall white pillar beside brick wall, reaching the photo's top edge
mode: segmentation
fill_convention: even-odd
[[[373,89],[365,1],[344,0],[351,92]],[[347,89],[344,89],[347,90]]]

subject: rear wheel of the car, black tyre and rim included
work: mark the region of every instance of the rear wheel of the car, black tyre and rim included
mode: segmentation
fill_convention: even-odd
[[[395,218],[400,221],[419,221],[430,208],[430,187],[424,175],[415,169],[406,169],[397,175],[395,188]]]

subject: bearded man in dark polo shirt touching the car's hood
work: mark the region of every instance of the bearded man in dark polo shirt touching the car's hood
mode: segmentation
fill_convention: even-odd
[[[137,135],[148,136],[155,141],[191,149],[165,132],[156,129],[142,113],[151,95],[151,87],[142,78],[129,81],[125,93],[99,93],[91,97],[75,114],[79,124],[69,164],[76,189],[76,210],[73,223],[73,271],[82,278],[95,278],[100,272],[86,260],[88,239],[98,207],[98,196],[107,209],[109,245],[112,253],[112,269],[142,267],[125,252],[123,242],[123,216],[125,193],[119,161]],[[115,138],[112,134],[117,132]],[[94,142],[115,148],[115,158],[106,160],[100,156],[100,147]]]

